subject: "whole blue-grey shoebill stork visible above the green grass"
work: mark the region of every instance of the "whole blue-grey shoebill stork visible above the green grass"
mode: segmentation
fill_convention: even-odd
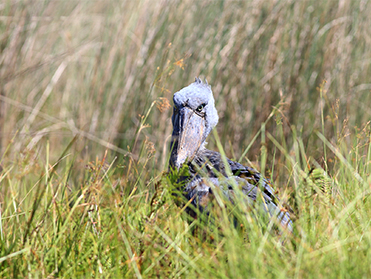
[[[220,153],[206,149],[205,140],[219,119],[206,80],[203,83],[196,78],[194,83],[176,92],[173,100],[170,167],[180,169],[188,165],[188,176],[181,179],[186,181],[182,190],[194,208],[207,212],[214,187],[220,188],[233,203],[233,187],[238,185],[250,204],[261,193],[267,214],[276,216],[283,227],[292,231],[290,214],[280,207],[279,198],[267,179],[251,167],[226,159],[231,171],[228,172]],[[228,176],[227,172],[232,175]],[[195,214],[191,208],[187,208],[187,212]]]

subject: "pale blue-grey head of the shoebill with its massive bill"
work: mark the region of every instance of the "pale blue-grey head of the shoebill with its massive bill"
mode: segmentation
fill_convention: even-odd
[[[195,82],[174,94],[170,165],[180,168],[192,161],[218,123],[213,92],[207,82]]]

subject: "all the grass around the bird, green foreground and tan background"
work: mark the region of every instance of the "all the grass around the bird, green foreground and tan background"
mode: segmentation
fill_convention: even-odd
[[[0,277],[369,277],[370,12],[4,1]],[[293,234],[243,204],[216,203],[207,224],[175,204],[169,108],[196,75],[220,116],[209,148],[274,182]]]

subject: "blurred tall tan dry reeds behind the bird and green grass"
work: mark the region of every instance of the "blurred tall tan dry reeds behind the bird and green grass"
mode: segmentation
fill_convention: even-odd
[[[76,167],[107,150],[164,170],[172,95],[195,76],[212,86],[229,157],[254,161],[264,145],[284,164],[254,138],[265,122],[321,164],[315,132],[346,143],[369,129],[370,14],[364,0],[2,1],[2,164],[53,162],[78,135]]]

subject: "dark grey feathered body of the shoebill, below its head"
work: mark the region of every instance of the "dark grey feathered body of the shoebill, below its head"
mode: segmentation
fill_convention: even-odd
[[[280,200],[274,194],[269,181],[258,171],[238,162],[226,159],[230,172],[226,169],[220,153],[202,148],[198,151],[192,163],[189,163],[191,178],[185,187],[186,198],[200,211],[207,210],[213,197],[213,187],[233,203],[235,187],[247,197],[245,200],[253,204],[257,195],[264,199],[263,208],[270,216],[276,216],[282,226],[292,231],[290,214],[283,208]],[[228,176],[228,173],[231,174]]]

